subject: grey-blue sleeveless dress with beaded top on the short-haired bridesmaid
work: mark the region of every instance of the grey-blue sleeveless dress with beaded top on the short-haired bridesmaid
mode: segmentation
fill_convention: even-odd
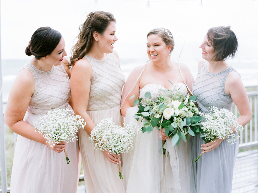
[[[197,80],[193,86],[193,94],[197,95],[198,109],[207,113],[210,106],[218,109],[232,109],[232,98],[225,92],[225,80],[228,73],[236,71],[232,66],[219,73],[207,70],[208,62],[201,66]],[[238,135],[236,132],[235,135]],[[193,155],[196,159],[202,152],[201,144],[205,142],[200,135],[193,137]],[[234,163],[239,149],[239,140],[230,145],[226,140],[208,153],[204,153],[197,163],[193,163],[194,186],[197,193],[229,193],[232,189]]]

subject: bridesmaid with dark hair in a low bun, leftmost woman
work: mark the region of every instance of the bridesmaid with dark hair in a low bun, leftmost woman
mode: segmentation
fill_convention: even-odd
[[[79,180],[77,142],[50,147],[33,125],[51,109],[70,108],[70,70],[64,65],[64,38],[50,27],[38,28],[25,52],[34,57],[20,70],[10,90],[5,122],[18,134],[11,192],[76,193]],[[64,149],[70,164],[66,163]]]

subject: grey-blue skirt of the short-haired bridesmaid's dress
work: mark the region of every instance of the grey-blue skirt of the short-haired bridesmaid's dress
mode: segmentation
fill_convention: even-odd
[[[238,135],[238,132],[235,133]],[[193,155],[196,159],[202,152],[201,144],[205,142],[200,135],[193,138]],[[239,140],[230,145],[226,140],[220,145],[204,153],[193,164],[194,182],[196,193],[230,193],[232,190],[233,169],[239,149]]]

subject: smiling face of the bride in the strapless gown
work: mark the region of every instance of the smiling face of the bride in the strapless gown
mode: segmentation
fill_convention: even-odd
[[[170,49],[171,46],[167,46],[158,35],[152,34],[148,36],[147,54],[153,63],[167,60]]]

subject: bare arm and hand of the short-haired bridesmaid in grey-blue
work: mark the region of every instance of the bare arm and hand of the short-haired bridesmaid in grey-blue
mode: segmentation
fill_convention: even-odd
[[[225,81],[225,91],[227,94],[230,94],[232,100],[236,104],[237,109],[239,110],[240,116],[238,117],[237,121],[240,125],[245,126],[252,119],[252,112],[245,86],[237,72],[230,72],[228,74]],[[234,129],[232,130],[233,133],[236,132]],[[222,139],[216,139],[215,143],[209,142],[202,144],[203,147],[201,149],[206,150],[203,151],[203,153],[209,152],[212,149],[217,148],[222,141]]]

